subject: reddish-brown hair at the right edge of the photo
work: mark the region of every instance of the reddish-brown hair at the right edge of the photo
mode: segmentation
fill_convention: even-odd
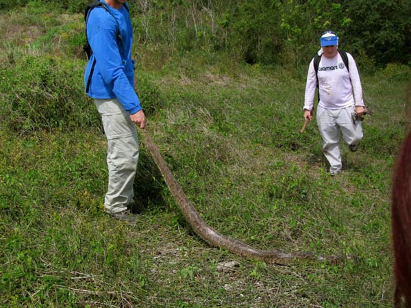
[[[392,199],[395,306],[411,308],[411,133],[399,151]]]

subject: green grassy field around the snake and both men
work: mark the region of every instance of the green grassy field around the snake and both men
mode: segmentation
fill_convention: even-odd
[[[150,65],[150,53],[136,54],[147,128],[208,224],[257,248],[356,256],[277,266],[193,233],[143,131],[138,222],[105,216],[105,136],[82,94],[86,63],[64,45],[81,16],[24,14],[0,16],[11,42],[0,57],[1,307],[392,307],[390,179],[410,68],[362,75],[374,114],[358,152],[344,146],[343,173],[329,177],[315,121],[299,133],[305,73],[209,54]],[[41,18],[59,22],[46,31]],[[49,112],[60,107],[76,116]]]

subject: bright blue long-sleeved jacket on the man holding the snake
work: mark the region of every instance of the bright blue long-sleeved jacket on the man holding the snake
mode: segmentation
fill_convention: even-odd
[[[117,21],[104,8],[94,8],[88,16],[87,38],[93,53],[84,74],[84,88],[89,97],[118,99],[127,112],[135,114],[141,106],[134,91],[132,22],[124,5],[120,10],[109,8]],[[121,40],[117,37],[117,22]],[[96,64],[87,91],[94,60]]]

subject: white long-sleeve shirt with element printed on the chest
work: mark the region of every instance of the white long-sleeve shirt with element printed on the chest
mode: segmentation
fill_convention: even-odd
[[[364,106],[360,75],[352,55],[347,53],[349,71],[340,53],[331,59],[321,57],[319,63],[319,105],[327,109],[340,109],[351,105]],[[312,110],[316,89],[314,58],[310,62],[307,75],[304,109]]]

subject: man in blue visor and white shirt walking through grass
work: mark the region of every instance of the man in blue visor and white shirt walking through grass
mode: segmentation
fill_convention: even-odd
[[[366,109],[360,75],[353,57],[338,51],[338,36],[332,31],[325,31],[320,43],[319,56],[312,59],[308,68],[303,110],[304,118],[312,120],[315,89],[318,86],[317,123],[323,138],[323,153],[330,164],[329,173],[334,176],[342,168],[340,131],[349,149],[357,151],[362,139],[359,119],[362,119]]]

